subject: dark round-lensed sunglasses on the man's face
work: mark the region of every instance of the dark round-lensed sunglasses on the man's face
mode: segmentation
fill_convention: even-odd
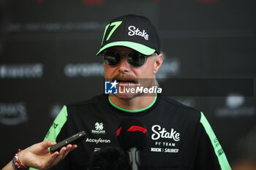
[[[118,66],[118,64],[121,62],[121,58],[124,55],[127,57],[127,62],[129,65],[139,67],[146,63],[146,59],[153,56],[154,53],[152,55],[143,55],[137,51],[120,53],[113,50],[106,50],[104,53],[102,53],[105,63],[107,63],[109,66]]]

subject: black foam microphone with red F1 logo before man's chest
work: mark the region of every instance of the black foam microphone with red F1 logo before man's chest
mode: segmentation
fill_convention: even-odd
[[[116,136],[120,147],[129,153],[132,170],[140,166],[139,151],[146,147],[148,133],[140,120],[129,117],[121,121]]]

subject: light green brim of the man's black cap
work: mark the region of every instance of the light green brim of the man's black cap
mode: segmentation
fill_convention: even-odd
[[[151,55],[156,51],[153,48],[147,47],[146,45],[140,45],[137,42],[111,42],[108,45],[105,45],[104,47],[102,47],[97,53],[97,55],[99,55],[99,53],[101,53],[103,50],[107,49],[108,47],[114,47],[114,46],[129,47],[129,48],[132,48],[133,50],[136,50],[142,53],[143,55]]]

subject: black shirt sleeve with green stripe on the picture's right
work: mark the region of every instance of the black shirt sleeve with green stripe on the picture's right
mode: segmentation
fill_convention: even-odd
[[[225,152],[203,112],[201,112],[199,129],[200,138],[197,145],[195,169],[231,170]]]

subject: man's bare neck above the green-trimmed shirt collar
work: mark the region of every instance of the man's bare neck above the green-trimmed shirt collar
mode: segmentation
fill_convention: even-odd
[[[155,100],[156,96],[136,96],[134,98],[118,98],[110,95],[110,101],[122,109],[138,110],[149,107]]]

